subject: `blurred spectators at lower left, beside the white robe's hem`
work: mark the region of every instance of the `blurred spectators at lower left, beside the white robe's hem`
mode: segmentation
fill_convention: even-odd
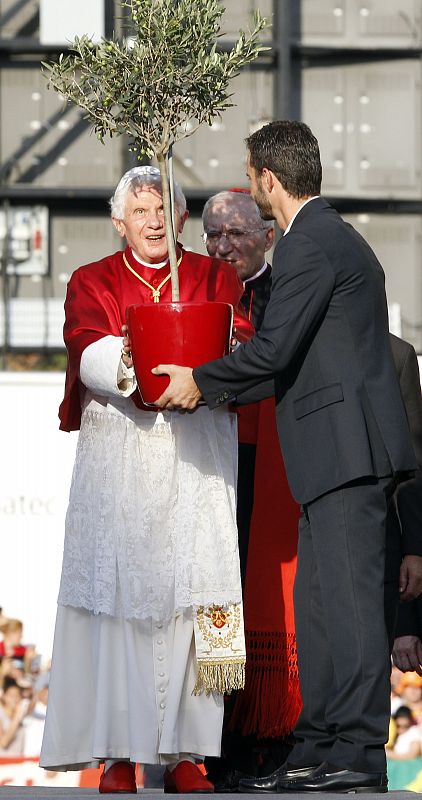
[[[50,664],[24,642],[21,620],[0,609],[0,759],[40,754]]]

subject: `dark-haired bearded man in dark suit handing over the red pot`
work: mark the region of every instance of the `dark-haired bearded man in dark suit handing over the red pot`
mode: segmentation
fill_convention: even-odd
[[[167,409],[275,394],[292,493],[301,503],[295,583],[303,711],[289,761],[246,791],[386,791],[390,716],[385,526],[416,467],[388,336],[384,273],[319,196],[318,142],[301,122],[247,140],[251,194],[284,236],[261,330],[224,359],[170,375]],[[265,576],[264,576],[265,579]],[[264,783],[262,783],[264,781]]]

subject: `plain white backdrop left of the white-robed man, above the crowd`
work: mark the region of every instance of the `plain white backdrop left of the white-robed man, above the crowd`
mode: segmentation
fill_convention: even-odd
[[[59,431],[61,373],[0,372],[0,606],[51,655],[76,433]]]

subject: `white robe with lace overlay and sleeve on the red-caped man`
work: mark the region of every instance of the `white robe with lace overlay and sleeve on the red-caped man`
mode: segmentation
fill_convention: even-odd
[[[121,339],[89,345],[40,764],[220,754],[223,697],[192,695],[193,618],[240,603],[227,408],[138,409]],[[119,368],[117,365],[120,362]]]

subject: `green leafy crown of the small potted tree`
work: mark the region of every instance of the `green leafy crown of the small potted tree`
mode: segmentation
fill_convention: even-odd
[[[260,51],[266,20],[217,47],[219,0],[120,0],[133,38],[76,38],[68,56],[43,64],[48,85],[83,108],[98,139],[127,134],[139,158],[166,156],[178,140],[210,124],[230,102],[229,83]],[[191,123],[187,125],[187,123]]]

